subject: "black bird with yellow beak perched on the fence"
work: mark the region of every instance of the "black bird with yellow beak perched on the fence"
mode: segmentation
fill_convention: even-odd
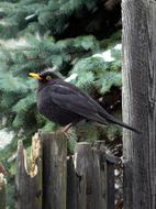
[[[38,110],[51,121],[60,125],[75,125],[82,120],[101,124],[114,123],[138,133],[134,128],[109,114],[89,95],[54,73],[31,73],[30,76],[38,80]]]

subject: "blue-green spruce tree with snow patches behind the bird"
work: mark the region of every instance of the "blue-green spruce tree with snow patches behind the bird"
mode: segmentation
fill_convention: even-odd
[[[0,161],[14,174],[5,158],[15,152],[16,141],[29,147],[38,129],[57,129],[38,113],[36,84],[29,73],[55,70],[109,111],[120,112],[121,9],[112,0],[0,0],[0,128],[14,131]],[[86,124],[74,131],[69,147],[75,139],[113,139],[114,133],[120,133],[115,127]]]

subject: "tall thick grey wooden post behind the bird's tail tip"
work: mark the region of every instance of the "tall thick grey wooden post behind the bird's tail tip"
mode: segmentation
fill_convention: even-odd
[[[124,208],[156,208],[156,2],[123,0]]]

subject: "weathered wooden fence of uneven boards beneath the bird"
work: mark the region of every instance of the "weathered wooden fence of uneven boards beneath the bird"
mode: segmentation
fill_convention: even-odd
[[[75,155],[67,156],[67,139],[60,132],[36,134],[30,157],[19,142],[15,208],[114,209],[118,161],[105,154],[101,141],[78,143]]]

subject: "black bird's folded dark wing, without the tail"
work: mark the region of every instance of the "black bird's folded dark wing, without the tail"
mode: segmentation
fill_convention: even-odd
[[[52,95],[52,100],[57,106],[75,112],[86,119],[107,123],[100,117],[99,105],[87,94],[83,94],[77,87],[69,84],[55,84],[48,89]]]

